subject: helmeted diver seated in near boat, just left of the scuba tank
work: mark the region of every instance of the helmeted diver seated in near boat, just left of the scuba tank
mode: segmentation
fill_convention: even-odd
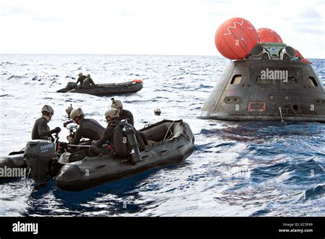
[[[89,148],[89,155],[91,157],[100,154],[108,155],[111,151],[114,152],[115,149],[115,140],[113,138],[115,128],[119,127],[119,111],[112,108],[106,111],[104,115],[107,122],[107,128],[105,129],[103,135],[101,135],[101,138],[97,141],[94,141],[91,148]],[[106,142],[110,144],[110,148],[102,147]]]

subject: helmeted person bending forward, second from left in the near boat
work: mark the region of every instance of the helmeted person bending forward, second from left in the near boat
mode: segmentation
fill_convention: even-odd
[[[75,124],[79,125],[79,127],[75,132],[75,137],[72,137],[71,135],[67,137],[69,144],[77,145],[80,143],[80,139],[82,138],[90,139],[91,143],[93,140],[98,140],[104,133],[105,128],[96,120],[86,119],[84,117],[84,112],[80,108],[71,111],[70,117]]]

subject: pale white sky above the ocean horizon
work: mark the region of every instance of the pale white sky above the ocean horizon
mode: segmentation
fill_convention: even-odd
[[[1,0],[0,54],[221,56],[217,27],[242,17],[325,58],[325,1]]]

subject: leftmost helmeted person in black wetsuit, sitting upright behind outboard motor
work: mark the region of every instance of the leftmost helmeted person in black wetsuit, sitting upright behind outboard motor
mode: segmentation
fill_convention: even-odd
[[[49,130],[47,123],[51,120],[54,111],[53,108],[47,104],[42,108],[42,117],[36,120],[33,130],[32,130],[32,139],[45,139],[54,141],[52,136],[53,133],[60,133],[61,128],[56,127],[53,130]]]

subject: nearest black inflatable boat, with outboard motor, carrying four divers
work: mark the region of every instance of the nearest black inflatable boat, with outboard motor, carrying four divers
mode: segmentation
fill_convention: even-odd
[[[60,189],[81,191],[152,168],[182,163],[194,150],[193,133],[189,124],[182,120],[163,120],[139,131],[145,134],[149,144],[139,152],[136,163],[131,163],[131,156],[85,157],[82,154],[80,161],[59,163],[60,160],[53,156],[56,155],[55,144],[32,140],[25,149],[27,165],[36,183],[46,183],[49,177],[54,177]]]

